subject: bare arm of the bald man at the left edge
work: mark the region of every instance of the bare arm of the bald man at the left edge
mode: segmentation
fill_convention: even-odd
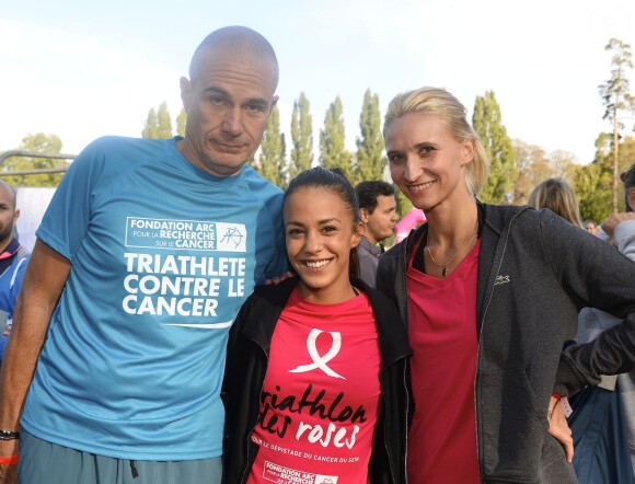
[[[24,399],[33,379],[50,315],[69,272],[70,262],[66,257],[41,241],[35,243],[15,304],[13,329],[2,361],[1,430],[20,429]],[[0,440],[0,458],[16,453],[18,440]],[[0,483],[12,482],[4,479],[7,471],[7,465],[0,465]]]

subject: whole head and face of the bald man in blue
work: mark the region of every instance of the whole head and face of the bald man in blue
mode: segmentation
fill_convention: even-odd
[[[213,176],[234,176],[257,150],[276,107],[278,60],[257,32],[219,28],[198,46],[181,78],[187,122],[177,147]]]

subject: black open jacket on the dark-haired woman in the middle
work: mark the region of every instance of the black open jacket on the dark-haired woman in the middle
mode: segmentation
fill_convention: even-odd
[[[255,459],[258,447],[251,441],[251,434],[258,418],[269,345],[278,318],[297,281],[292,278],[277,286],[257,287],[243,304],[231,329],[223,383],[227,484],[245,482]],[[351,283],[368,295],[377,320],[381,352],[379,379],[382,404],[369,463],[370,481],[405,483],[408,411],[406,359],[412,353],[407,335],[390,300],[359,279]]]

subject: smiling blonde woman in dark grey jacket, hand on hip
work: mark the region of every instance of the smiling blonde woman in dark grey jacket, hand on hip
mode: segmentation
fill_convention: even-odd
[[[380,260],[414,355],[414,483],[575,483],[561,399],[635,367],[635,265],[549,210],[481,204],[484,148],[442,89],[392,100],[391,176],[427,222]],[[622,323],[563,350],[585,306]]]

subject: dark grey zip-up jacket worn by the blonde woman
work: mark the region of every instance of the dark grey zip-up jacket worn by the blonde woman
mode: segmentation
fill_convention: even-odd
[[[480,204],[480,214],[474,401],[482,481],[575,483],[547,433],[550,396],[635,368],[635,264],[550,210]],[[426,235],[423,226],[379,263],[378,289],[406,325],[406,264]],[[563,349],[584,307],[622,324]]]

